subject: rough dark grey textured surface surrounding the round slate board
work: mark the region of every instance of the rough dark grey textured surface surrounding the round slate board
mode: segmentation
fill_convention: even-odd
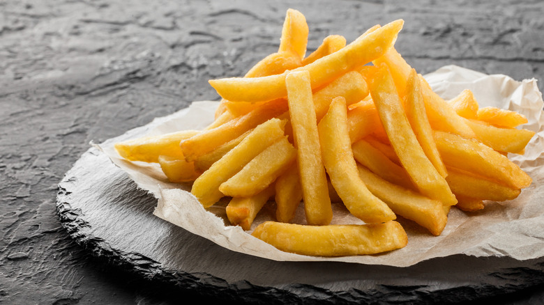
[[[248,289],[266,286],[259,282],[233,284],[220,280],[225,276],[190,272],[188,281],[173,276],[158,284],[153,276],[158,266],[146,258],[119,256],[114,249],[94,247],[100,244],[96,241],[70,237],[72,232],[56,215],[55,200],[57,184],[89,149],[89,141],[122,134],[192,100],[216,99],[207,79],[241,75],[274,52],[288,7],[307,17],[310,48],[328,34],[342,34],[349,41],[373,24],[403,18],[406,24],[397,48],[418,72],[456,64],[515,79],[535,77],[543,91],[541,1],[398,2],[1,1],[0,300],[173,304],[197,292],[225,292],[220,295],[225,299],[229,287],[244,295],[269,291]],[[127,187],[127,196],[149,200]],[[132,268],[135,261],[137,268]],[[541,263],[513,269],[508,266],[515,262],[483,263],[508,270],[497,273],[494,282],[507,283],[494,290],[497,304],[544,302],[544,287],[532,281],[542,278]],[[459,264],[480,268],[480,262],[470,258]],[[425,267],[440,270],[442,265],[433,261]],[[395,271],[407,278],[421,276]],[[433,276],[423,274],[423,279],[431,281]],[[197,285],[186,286],[192,282]],[[212,292],[204,283],[218,288]],[[455,292],[483,297],[497,287],[494,283]],[[407,285],[398,300],[410,295],[428,299],[419,288],[419,282]],[[388,289],[386,283],[379,290],[357,293],[380,295]],[[512,294],[515,290],[522,292]]]

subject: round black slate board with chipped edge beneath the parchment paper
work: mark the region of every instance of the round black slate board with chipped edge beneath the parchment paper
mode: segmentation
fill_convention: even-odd
[[[137,276],[241,304],[458,304],[536,286],[544,258],[451,256],[399,268],[276,262],[229,251],[155,217],[156,198],[96,148],[59,184],[56,208],[71,237]]]

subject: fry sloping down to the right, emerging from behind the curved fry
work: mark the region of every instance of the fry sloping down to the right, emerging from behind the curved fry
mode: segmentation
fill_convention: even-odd
[[[441,201],[388,182],[365,166],[359,165],[358,173],[372,194],[387,203],[395,214],[415,221],[416,224],[427,228],[432,235],[442,233],[448,221],[448,214]]]

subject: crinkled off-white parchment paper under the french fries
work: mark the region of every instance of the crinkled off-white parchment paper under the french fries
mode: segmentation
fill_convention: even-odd
[[[538,91],[536,80],[520,82],[505,75],[484,75],[454,65],[425,75],[425,79],[445,99],[451,99],[468,88],[473,91],[481,107],[501,107],[527,116],[529,123],[522,127],[534,130],[537,134],[531,139],[524,155],[509,157],[529,173],[533,183],[523,189],[515,200],[488,202],[485,209],[478,212],[467,213],[453,208],[446,228],[437,237],[411,221],[399,219],[408,234],[407,247],[377,256],[320,258],[279,251],[252,237],[250,232],[244,232],[239,226],[229,226],[225,216],[227,202],[217,203],[209,210],[204,210],[188,192],[190,185],[169,183],[158,164],[127,162],[113,148],[118,141],[139,136],[202,129],[212,122],[218,102],[193,102],[186,109],[156,118],[149,125],[130,130],[96,147],[126,171],[138,187],[158,198],[154,212],[156,216],[232,251],[272,260],[329,260],[398,267],[460,253],[469,256],[510,256],[518,260],[544,256],[544,118],[542,95]],[[273,205],[273,202],[265,205],[252,228],[273,219]],[[304,224],[301,206],[297,211],[296,221]],[[352,217],[341,204],[333,204],[333,208],[333,224],[362,223]]]

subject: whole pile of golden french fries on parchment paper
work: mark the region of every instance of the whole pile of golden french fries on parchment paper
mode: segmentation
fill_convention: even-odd
[[[397,217],[440,235],[453,205],[481,210],[531,184],[507,155],[524,153],[534,132],[517,128],[521,114],[478,107],[469,90],[452,100],[433,92],[394,48],[402,26],[374,26],[349,45],[328,36],[306,56],[308,24],[289,9],[278,52],[243,77],[209,81],[222,97],[211,125],[116,150],[192,183],[204,208],[230,198],[230,224],[244,230],[275,201],[276,221],[252,235],[282,251],[400,249],[407,234]],[[293,224],[299,204],[305,223]],[[336,204],[364,224],[331,224]]]

